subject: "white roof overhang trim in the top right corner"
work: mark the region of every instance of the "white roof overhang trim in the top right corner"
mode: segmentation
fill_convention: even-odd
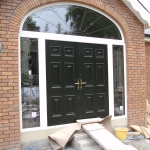
[[[122,1],[144,24],[145,28],[150,28],[150,13],[137,0],[122,0]]]

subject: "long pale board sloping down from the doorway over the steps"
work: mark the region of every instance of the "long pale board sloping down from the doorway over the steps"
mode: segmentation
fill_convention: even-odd
[[[83,125],[82,128],[105,150],[129,150],[124,143],[98,123]]]

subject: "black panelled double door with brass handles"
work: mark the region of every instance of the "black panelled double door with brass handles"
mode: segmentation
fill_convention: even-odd
[[[107,45],[46,40],[48,126],[105,117]]]

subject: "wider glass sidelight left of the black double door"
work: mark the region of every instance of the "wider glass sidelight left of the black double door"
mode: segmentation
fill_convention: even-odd
[[[21,95],[23,128],[39,127],[38,39],[21,38]]]

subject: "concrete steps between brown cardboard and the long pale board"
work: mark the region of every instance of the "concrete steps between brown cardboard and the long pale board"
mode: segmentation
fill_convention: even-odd
[[[80,132],[74,134],[70,145],[75,150],[103,150],[87,133]]]

